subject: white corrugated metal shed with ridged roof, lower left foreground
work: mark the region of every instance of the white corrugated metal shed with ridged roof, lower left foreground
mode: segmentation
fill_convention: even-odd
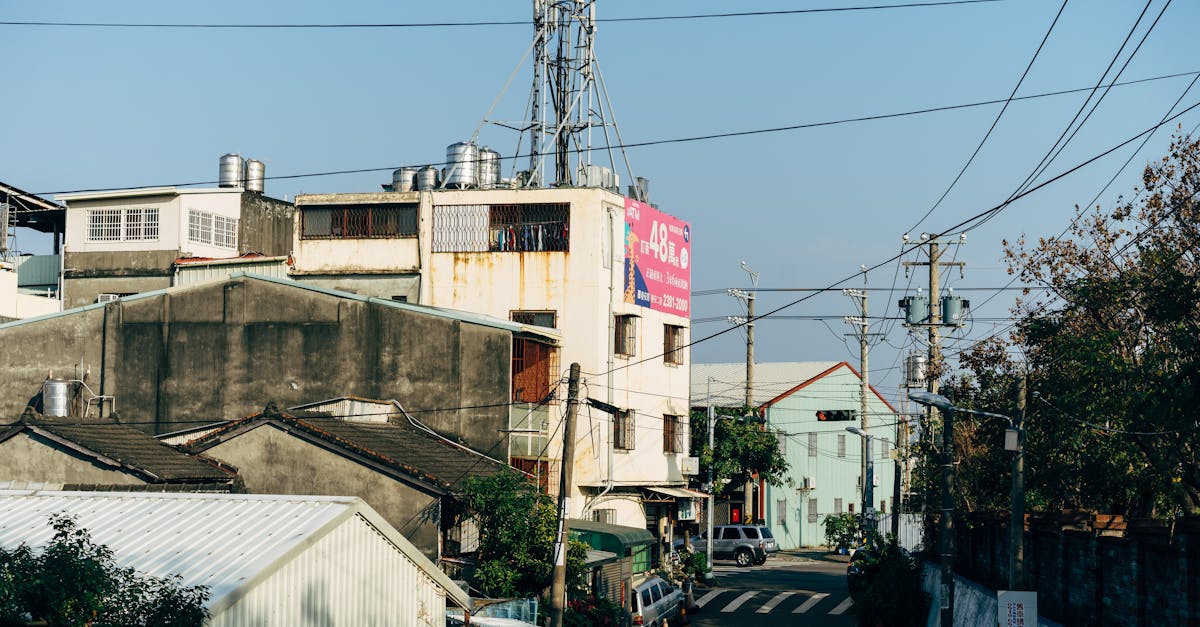
[[[344,496],[0,490],[0,547],[77,516],[119,566],[208,586],[208,625],[445,625],[470,598],[370,506]]]

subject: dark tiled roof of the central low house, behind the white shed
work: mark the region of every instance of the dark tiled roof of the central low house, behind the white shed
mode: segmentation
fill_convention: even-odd
[[[444,437],[398,420],[388,424],[352,423],[320,414],[301,417],[288,413],[259,413],[235,420],[188,444],[193,452],[206,450],[238,437],[263,423],[276,423],[334,444],[353,456],[408,474],[444,490],[456,490],[470,476],[491,476],[509,466]]]

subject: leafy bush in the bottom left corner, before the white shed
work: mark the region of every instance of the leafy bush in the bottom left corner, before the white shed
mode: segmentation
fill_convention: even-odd
[[[0,625],[199,626],[209,591],[178,577],[142,575],[115,565],[113,551],[64,514],[41,554],[0,549]]]

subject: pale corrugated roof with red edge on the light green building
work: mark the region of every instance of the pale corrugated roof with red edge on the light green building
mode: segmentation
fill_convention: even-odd
[[[760,407],[780,394],[829,370],[841,362],[769,362],[754,365],[754,406]],[[712,380],[709,388],[709,380]],[[712,404],[739,407],[745,404],[746,364],[691,364],[691,405]]]

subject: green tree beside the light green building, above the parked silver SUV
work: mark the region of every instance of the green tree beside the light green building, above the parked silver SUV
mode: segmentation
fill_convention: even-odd
[[[791,485],[790,466],[779,449],[779,438],[763,429],[754,410],[718,407],[713,444],[715,452],[708,448],[708,414],[691,412],[691,454],[700,458],[701,477],[708,477],[708,468],[713,468],[718,496],[739,490],[756,474],[775,486]]]

